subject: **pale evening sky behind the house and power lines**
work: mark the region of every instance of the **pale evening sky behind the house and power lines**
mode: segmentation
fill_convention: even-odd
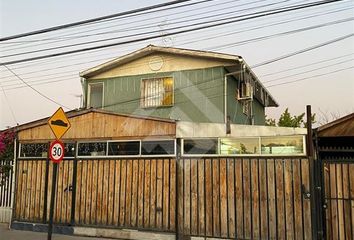
[[[0,38],[163,2],[167,1],[0,0]],[[315,0],[214,0],[185,8],[0,42],[0,62],[73,50],[73,44],[83,41],[118,38],[142,31],[170,33],[173,32],[171,28],[183,24],[311,2]],[[252,67],[353,34],[352,18],[354,1],[347,0],[188,34],[7,65],[10,70],[2,65],[0,129],[48,117],[58,108],[57,103],[67,107],[66,110],[79,108],[82,94],[80,71],[148,44],[236,54],[242,56]],[[313,28],[305,31],[304,28],[308,27]],[[296,31],[299,29],[303,30]],[[107,31],[110,32],[87,36]],[[295,32],[290,34],[290,31]],[[277,35],[274,36],[275,34]],[[104,41],[100,44],[116,41]],[[60,50],[24,54],[63,45],[71,46]],[[312,111],[317,114],[317,124],[320,124],[354,112],[353,60],[354,37],[349,37],[272,64],[252,68],[280,105],[278,108],[267,108],[266,114],[279,118],[287,107],[292,114],[300,114],[305,112],[306,105],[311,105]],[[47,98],[25,86],[14,73]]]

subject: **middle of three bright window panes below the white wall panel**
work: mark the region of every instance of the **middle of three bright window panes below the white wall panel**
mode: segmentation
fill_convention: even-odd
[[[259,138],[221,139],[220,154],[259,154]]]

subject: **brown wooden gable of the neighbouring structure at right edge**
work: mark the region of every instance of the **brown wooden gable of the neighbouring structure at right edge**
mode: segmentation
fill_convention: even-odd
[[[317,128],[320,137],[354,136],[354,113]]]

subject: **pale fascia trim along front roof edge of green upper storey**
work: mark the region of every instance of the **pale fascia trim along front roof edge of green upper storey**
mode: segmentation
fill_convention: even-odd
[[[230,61],[238,61],[242,59],[240,56],[225,54],[225,53],[217,53],[210,51],[200,51],[200,50],[191,50],[191,49],[183,49],[183,48],[174,48],[174,47],[160,47],[154,45],[148,45],[142,49],[131,52],[129,54],[123,55],[121,57],[115,58],[111,61],[102,63],[98,66],[89,68],[85,71],[80,72],[80,76],[87,78],[97,75],[99,73],[108,71],[112,68],[118,67],[125,63],[131,62],[135,59],[147,56],[151,53],[172,53],[178,55],[185,55],[191,57],[200,57],[200,58],[209,58],[209,59],[219,59],[219,60],[230,60]]]

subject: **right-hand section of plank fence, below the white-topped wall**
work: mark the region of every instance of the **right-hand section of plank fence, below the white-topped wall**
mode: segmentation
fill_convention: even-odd
[[[181,235],[311,239],[307,159],[182,159]]]

